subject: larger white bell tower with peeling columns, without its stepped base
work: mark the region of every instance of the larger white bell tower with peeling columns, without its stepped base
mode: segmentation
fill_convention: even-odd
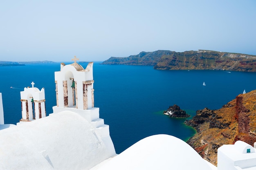
[[[94,107],[92,66],[90,62],[84,69],[74,56],[74,63],[61,63],[61,71],[55,72],[56,103],[58,108],[87,110]]]

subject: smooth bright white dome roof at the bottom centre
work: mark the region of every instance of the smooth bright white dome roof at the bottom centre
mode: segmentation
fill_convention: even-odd
[[[146,137],[92,170],[216,170],[186,142],[170,135]]]

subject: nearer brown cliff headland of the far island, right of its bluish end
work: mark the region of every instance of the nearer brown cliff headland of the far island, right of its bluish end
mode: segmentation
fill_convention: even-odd
[[[256,71],[256,56],[218,51],[184,51],[163,55],[155,69]]]

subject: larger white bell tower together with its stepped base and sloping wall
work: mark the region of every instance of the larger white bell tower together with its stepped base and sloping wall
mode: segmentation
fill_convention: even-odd
[[[61,63],[61,71],[55,72],[57,106],[52,107],[53,114],[65,111],[79,114],[91,124],[95,134],[114,153],[109,126],[104,124],[104,119],[99,118],[99,108],[94,107],[93,62],[88,63],[84,69],[76,63],[79,60],[76,56],[72,60],[72,64]]]

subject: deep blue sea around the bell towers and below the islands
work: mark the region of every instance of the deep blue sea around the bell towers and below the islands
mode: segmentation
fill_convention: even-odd
[[[20,91],[31,86],[31,82],[39,89],[45,88],[46,112],[52,113],[52,106],[56,105],[54,71],[59,70],[60,63],[0,67],[5,124],[20,120]],[[95,107],[100,108],[100,117],[110,125],[117,153],[150,135],[169,134],[182,140],[191,137],[195,131],[183,124],[186,119],[163,115],[163,110],[173,104],[193,116],[196,110],[205,107],[221,108],[244,89],[247,92],[256,89],[256,73],[160,71],[153,66],[99,62],[94,62],[93,72]]]

